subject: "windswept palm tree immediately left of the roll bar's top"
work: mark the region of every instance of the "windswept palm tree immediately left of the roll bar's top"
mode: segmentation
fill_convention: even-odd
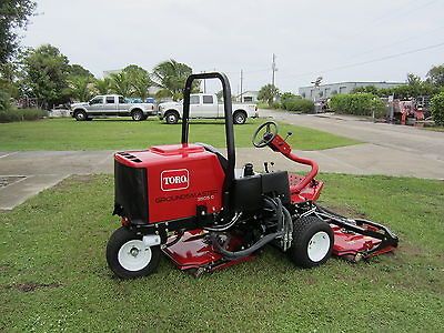
[[[151,79],[158,87],[164,89],[174,100],[183,97],[186,78],[192,73],[191,67],[170,59],[154,67]],[[193,91],[199,91],[200,82],[193,82]]]

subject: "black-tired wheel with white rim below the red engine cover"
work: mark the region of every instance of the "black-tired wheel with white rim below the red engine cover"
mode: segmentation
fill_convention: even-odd
[[[130,251],[132,252],[135,250],[135,255],[130,252],[125,253],[124,250],[131,246],[133,248]],[[122,253],[120,253],[121,250]],[[137,256],[140,255],[141,251],[150,252],[142,252],[138,261]],[[147,248],[142,243],[142,235],[135,234],[125,226],[115,230],[107,245],[108,265],[111,271],[121,279],[134,279],[154,273],[159,266],[160,255],[159,245]],[[131,256],[134,258],[133,262],[131,262]],[[131,265],[132,268],[130,269]]]

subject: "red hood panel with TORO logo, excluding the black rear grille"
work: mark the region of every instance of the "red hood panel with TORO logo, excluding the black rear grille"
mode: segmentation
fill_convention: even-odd
[[[222,208],[224,172],[215,154],[196,144],[172,144],[131,151],[114,159],[148,175],[149,223],[194,216],[198,205],[208,212]]]

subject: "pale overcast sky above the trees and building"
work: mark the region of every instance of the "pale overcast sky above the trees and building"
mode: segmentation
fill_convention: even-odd
[[[444,63],[444,0],[37,0],[22,44],[50,43],[98,78],[174,59],[223,71],[233,93],[425,78]],[[219,83],[206,84],[219,91]]]

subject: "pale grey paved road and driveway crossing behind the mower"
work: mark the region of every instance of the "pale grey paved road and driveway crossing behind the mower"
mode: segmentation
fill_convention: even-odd
[[[296,151],[319,162],[321,171],[407,175],[444,180],[444,133],[375,124],[350,118],[296,115],[262,110],[263,115],[361,140],[363,144],[323,151]],[[294,133],[297,135],[297,133]],[[10,210],[70,174],[112,173],[112,151],[0,152],[0,209]],[[238,167],[264,161],[275,170],[306,170],[270,149],[238,149]]]

